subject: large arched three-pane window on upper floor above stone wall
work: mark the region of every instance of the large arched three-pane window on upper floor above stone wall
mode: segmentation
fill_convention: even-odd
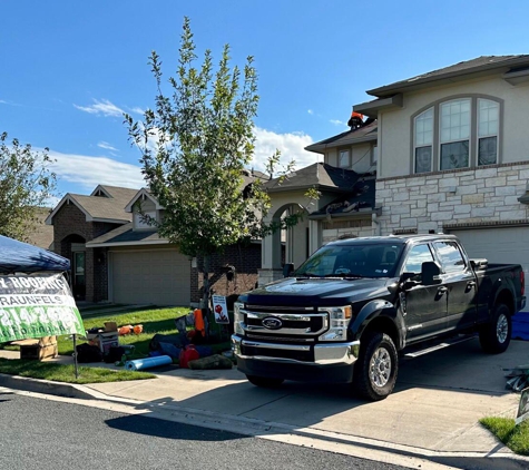
[[[413,118],[415,174],[499,163],[500,101],[463,97]]]

